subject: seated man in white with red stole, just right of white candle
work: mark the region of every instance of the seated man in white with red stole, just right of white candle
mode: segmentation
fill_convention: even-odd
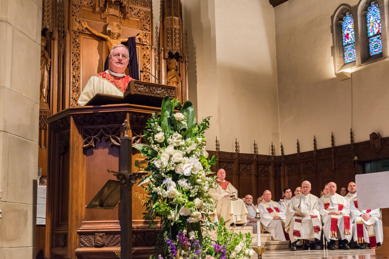
[[[263,228],[270,232],[274,240],[285,241],[284,208],[279,206],[275,201],[272,201],[272,193],[269,190],[263,192],[263,201],[258,206]]]

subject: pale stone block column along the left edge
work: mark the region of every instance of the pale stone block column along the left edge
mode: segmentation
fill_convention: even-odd
[[[35,258],[42,0],[0,1],[0,259]]]

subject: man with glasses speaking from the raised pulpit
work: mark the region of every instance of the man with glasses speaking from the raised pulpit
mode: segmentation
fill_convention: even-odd
[[[109,69],[93,75],[84,86],[77,101],[79,106],[86,105],[97,93],[123,97],[128,83],[132,80],[124,73],[130,61],[127,47],[123,44],[113,47],[108,61]]]

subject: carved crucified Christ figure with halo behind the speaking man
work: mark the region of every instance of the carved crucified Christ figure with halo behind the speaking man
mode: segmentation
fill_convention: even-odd
[[[121,26],[118,23],[110,23],[110,24],[108,24],[107,30],[106,30],[108,36],[104,35],[102,33],[96,32],[96,30],[93,30],[88,25],[88,23],[86,23],[86,21],[84,21],[84,20],[80,19],[79,23],[80,23],[80,25],[82,27],[82,30],[85,30],[85,28],[87,28],[89,30],[89,32],[93,33],[97,37],[100,37],[100,38],[104,39],[107,42],[107,44],[108,44],[109,52],[111,52],[111,49],[113,47],[115,47],[116,45],[119,45],[122,42],[128,41],[128,38],[119,38],[120,35],[121,35]],[[140,37],[140,33],[138,33],[137,36],[135,36],[135,39],[138,39],[139,37]]]

